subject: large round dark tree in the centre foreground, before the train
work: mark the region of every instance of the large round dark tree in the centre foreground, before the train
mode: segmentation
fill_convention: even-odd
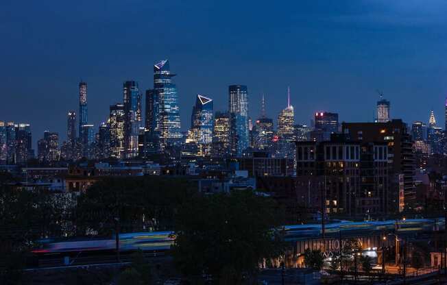
[[[252,191],[196,197],[177,216],[174,262],[189,277],[205,273],[240,284],[263,258],[283,252],[280,217],[273,200]]]

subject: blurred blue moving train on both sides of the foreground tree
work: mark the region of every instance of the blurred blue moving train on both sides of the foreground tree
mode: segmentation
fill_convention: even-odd
[[[417,232],[431,232],[444,229],[444,218],[440,219],[407,219],[387,221],[337,221],[325,225],[326,236],[343,236],[350,238],[365,236],[367,234],[383,234],[395,232],[396,234],[412,234]],[[322,234],[321,224],[286,225],[282,227],[286,241],[306,240],[317,238]],[[136,232],[119,235],[120,251],[143,251],[162,252],[170,249],[176,236],[174,232]],[[40,246],[32,252],[41,255],[58,253],[83,253],[114,251],[116,241],[110,238],[92,239],[68,239],[40,240]]]

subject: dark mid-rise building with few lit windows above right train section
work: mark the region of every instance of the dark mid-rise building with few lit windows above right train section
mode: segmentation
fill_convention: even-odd
[[[387,143],[333,136],[324,142],[297,142],[298,202],[326,214],[372,219],[387,213]]]

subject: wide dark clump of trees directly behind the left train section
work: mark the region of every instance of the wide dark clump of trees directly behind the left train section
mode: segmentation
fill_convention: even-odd
[[[184,177],[108,177],[93,184],[78,199],[78,234],[114,232],[119,216],[121,232],[172,230],[178,209],[197,194]]]

